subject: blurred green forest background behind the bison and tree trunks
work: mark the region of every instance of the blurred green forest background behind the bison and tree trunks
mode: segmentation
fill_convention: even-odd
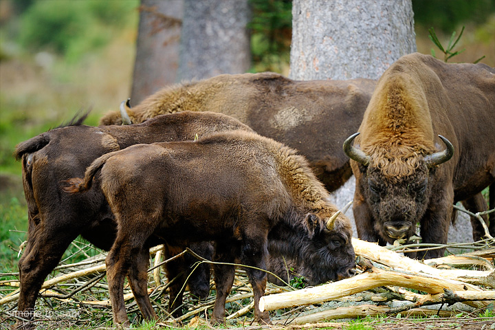
[[[252,69],[289,74],[291,2],[252,0]],[[465,32],[451,62],[495,67],[494,0],[413,0],[418,51]],[[19,142],[92,109],[87,124],[129,97],[138,0],[0,0],[0,272],[14,270],[27,211]]]

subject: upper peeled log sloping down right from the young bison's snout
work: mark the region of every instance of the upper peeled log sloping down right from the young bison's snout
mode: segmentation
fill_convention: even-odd
[[[491,283],[491,287],[495,287],[495,278],[490,277],[490,274],[492,274],[491,271],[441,270],[425,265],[415,259],[410,259],[397,252],[387,250],[377,243],[366,242],[355,238],[352,239],[352,243],[356,255],[364,256],[366,259],[395,269],[407,270],[414,273],[423,272],[455,281],[483,281],[483,284],[488,281],[488,284]]]

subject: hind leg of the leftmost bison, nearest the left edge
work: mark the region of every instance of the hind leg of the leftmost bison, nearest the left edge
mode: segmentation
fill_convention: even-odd
[[[52,232],[58,232],[56,236],[50,236],[45,231],[36,229],[34,234],[28,236],[28,245],[19,260],[21,287],[17,311],[19,316],[26,320],[33,318],[34,304],[46,276],[52,272],[69,244],[77,237],[77,234],[56,228],[51,228]],[[16,326],[28,325],[18,320]]]

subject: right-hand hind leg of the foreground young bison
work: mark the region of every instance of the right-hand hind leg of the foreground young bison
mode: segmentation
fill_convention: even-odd
[[[134,257],[131,270],[129,271],[129,284],[131,285],[137,306],[140,307],[141,314],[146,320],[157,319],[155,310],[148,297],[148,248],[142,248]]]

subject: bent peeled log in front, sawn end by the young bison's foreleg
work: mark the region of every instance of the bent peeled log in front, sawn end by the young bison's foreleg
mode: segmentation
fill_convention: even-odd
[[[384,271],[372,267],[369,272],[334,283],[264,296],[260,299],[259,308],[261,311],[272,311],[286,307],[322,303],[384,285],[408,287],[428,294],[443,294],[443,289],[450,289],[451,291],[483,291],[479,287],[461,281]],[[485,302],[472,302],[470,304],[476,307],[486,307],[488,305]]]

